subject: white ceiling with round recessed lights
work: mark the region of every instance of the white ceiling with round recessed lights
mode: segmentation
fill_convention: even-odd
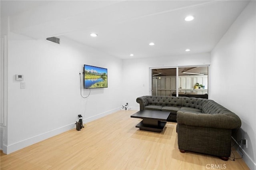
[[[11,32],[35,39],[65,36],[126,59],[210,52],[248,2],[1,0],[0,5],[1,16],[10,16]],[[186,22],[188,15],[195,19]]]

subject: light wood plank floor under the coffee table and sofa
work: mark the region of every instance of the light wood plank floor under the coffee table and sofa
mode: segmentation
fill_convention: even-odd
[[[161,133],[138,130],[136,111],[118,111],[38,142],[11,154],[1,152],[1,170],[247,170],[242,159],[181,153],[176,123],[167,123]],[[236,157],[239,157],[234,151]]]

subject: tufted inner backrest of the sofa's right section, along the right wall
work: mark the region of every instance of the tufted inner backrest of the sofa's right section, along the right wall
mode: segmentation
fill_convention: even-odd
[[[213,100],[208,100],[202,105],[202,113],[216,114],[216,113],[227,113],[231,112],[222,105],[216,103]]]

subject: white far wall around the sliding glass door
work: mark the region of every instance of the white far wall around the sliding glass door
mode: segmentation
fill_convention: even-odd
[[[136,98],[150,94],[150,68],[209,65],[210,53],[193,55],[125,59],[123,61],[123,103],[139,109]]]

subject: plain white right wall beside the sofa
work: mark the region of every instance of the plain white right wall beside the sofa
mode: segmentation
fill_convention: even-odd
[[[250,169],[256,169],[255,14],[252,1],[212,51],[210,75],[210,98],[242,120],[237,136],[248,140],[243,152]]]

